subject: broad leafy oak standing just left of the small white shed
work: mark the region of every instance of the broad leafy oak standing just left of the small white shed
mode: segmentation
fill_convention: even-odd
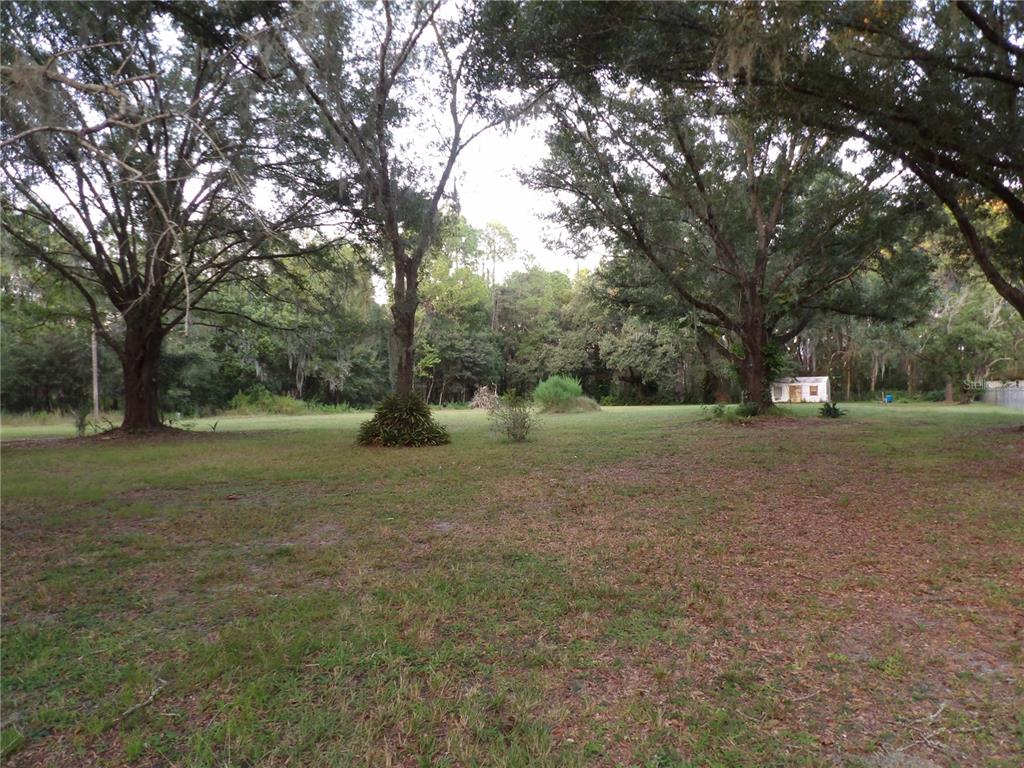
[[[558,99],[532,181],[561,196],[579,238],[613,254],[605,280],[690,318],[765,410],[782,345],[822,311],[883,311],[858,275],[896,279],[913,252],[897,242],[905,212],[880,173],[846,173],[835,141],[752,116],[740,97],[609,86]]]

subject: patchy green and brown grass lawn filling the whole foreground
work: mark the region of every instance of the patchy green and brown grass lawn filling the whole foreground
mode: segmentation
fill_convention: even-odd
[[[849,411],[5,429],[5,763],[1016,768],[1024,417]]]

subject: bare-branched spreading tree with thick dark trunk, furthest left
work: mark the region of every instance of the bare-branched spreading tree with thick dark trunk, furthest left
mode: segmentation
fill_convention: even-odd
[[[10,255],[45,264],[78,291],[121,360],[126,430],[160,426],[171,329],[229,276],[301,250],[288,236],[311,220],[307,200],[282,196],[259,208],[253,199],[256,179],[283,163],[242,44],[258,35],[253,16],[268,11],[3,5]],[[106,323],[109,311],[120,323]]]

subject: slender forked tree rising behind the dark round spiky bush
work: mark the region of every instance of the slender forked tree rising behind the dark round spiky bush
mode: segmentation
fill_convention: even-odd
[[[496,112],[467,90],[463,58],[476,36],[442,19],[442,5],[307,3],[278,25],[278,45],[262,48],[269,68],[290,71],[316,115],[311,145],[328,145],[309,186],[346,206],[347,225],[391,271],[398,394],[413,390],[420,268],[437,241],[442,202],[454,198],[459,157],[532,104]],[[414,142],[414,132],[438,138]]]

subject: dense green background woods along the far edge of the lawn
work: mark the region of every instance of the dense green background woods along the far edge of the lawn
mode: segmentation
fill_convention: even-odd
[[[524,258],[504,226],[451,217],[427,255],[417,314],[414,389],[464,404],[484,386],[528,393],[578,378],[605,404],[735,400],[741,380],[691,323],[638,312],[614,262],[569,276]],[[939,249],[942,241],[931,247]],[[977,382],[1024,375],[1024,321],[975,269],[948,255],[927,300],[895,321],[834,314],[783,348],[778,375],[829,375],[844,400],[971,398]],[[510,271],[496,280],[496,266]],[[234,409],[367,408],[391,388],[387,307],[351,250],[293,260],[260,290],[223,287],[218,322],[168,336],[160,408],[191,418]],[[7,412],[76,411],[90,402],[89,321],[38,266],[0,278],[0,370]],[[101,404],[122,407],[116,358],[100,355]],[[272,399],[272,398],[285,399]],[[303,404],[305,403],[305,404]]]

